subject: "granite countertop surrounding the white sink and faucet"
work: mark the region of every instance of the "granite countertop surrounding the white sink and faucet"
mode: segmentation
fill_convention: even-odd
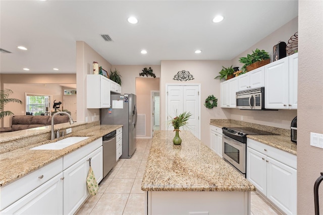
[[[71,134],[66,135],[64,138],[70,137],[70,136],[83,136],[83,137],[89,137],[89,138],[87,138],[86,140],[80,141],[78,143],[75,143],[71,146],[68,146],[66,148],[63,148],[61,150],[30,150],[30,148],[33,148],[35,146],[56,141],[56,140],[43,141],[41,137],[42,135],[40,135],[39,141],[35,141],[34,144],[29,144],[27,146],[23,145],[22,147],[13,146],[15,148],[14,150],[10,150],[0,154],[0,172],[1,172],[0,186],[9,184],[31,173],[32,171],[35,171],[59,159],[63,155],[66,155],[72,151],[75,151],[76,149],[98,138],[101,138],[105,134],[108,134],[121,127],[122,125],[96,125],[86,129],[81,129],[79,131],[72,132]],[[10,135],[13,135],[13,134],[10,134]],[[46,134],[43,134],[43,135],[46,135]],[[8,140],[11,140],[11,138],[8,138]],[[13,145],[19,144],[19,141],[12,142],[11,144]]]

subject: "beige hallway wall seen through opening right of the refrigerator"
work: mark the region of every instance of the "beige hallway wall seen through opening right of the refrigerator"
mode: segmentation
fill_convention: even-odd
[[[146,136],[151,136],[151,91],[159,91],[159,78],[136,78],[138,114],[146,115]],[[160,120],[160,119],[159,119]]]

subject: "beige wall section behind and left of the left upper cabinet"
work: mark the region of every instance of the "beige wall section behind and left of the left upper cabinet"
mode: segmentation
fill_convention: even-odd
[[[93,62],[98,62],[99,67],[110,71],[111,64],[103,59],[93,48],[84,41],[76,41],[76,79],[77,79],[77,120],[78,122],[92,121],[92,116],[96,114],[94,121],[100,120],[99,109],[86,108],[86,75],[93,74]]]

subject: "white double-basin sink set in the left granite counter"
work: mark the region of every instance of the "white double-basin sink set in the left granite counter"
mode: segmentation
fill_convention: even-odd
[[[44,145],[36,146],[31,149],[32,150],[60,150],[60,149],[66,148],[70,145],[73,145],[77,142],[80,142],[82,140],[85,140],[87,138],[89,138],[89,137],[68,137],[68,138],[59,140],[57,142],[47,143]]]

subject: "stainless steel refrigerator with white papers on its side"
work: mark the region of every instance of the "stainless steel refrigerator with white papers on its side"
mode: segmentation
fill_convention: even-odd
[[[136,123],[136,95],[111,94],[111,108],[101,109],[101,124],[123,125],[120,158],[130,158],[136,150]]]

